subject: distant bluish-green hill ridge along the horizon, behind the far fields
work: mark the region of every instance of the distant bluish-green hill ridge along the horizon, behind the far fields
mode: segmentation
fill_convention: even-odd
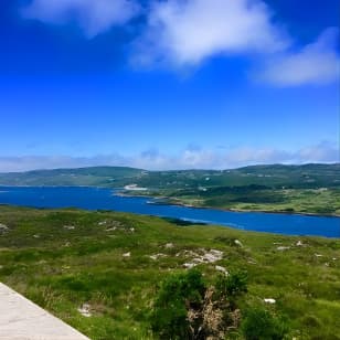
[[[340,188],[340,163],[251,166],[221,171],[147,171],[127,167],[92,167],[0,173],[0,185],[88,185],[120,188],[131,183],[161,190],[251,184],[270,188]]]

